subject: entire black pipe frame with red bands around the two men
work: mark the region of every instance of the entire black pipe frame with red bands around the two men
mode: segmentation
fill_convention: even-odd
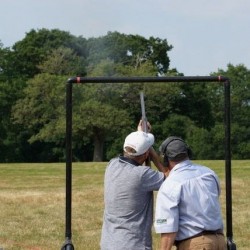
[[[63,250],[72,250],[71,203],[72,203],[72,86],[74,83],[152,83],[152,82],[219,82],[224,83],[225,110],[225,175],[226,175],[226,236],[227,248],[236,250],[232,227],[232,178],[231,178],[231,121],[230,81],[223,76],[183,77],[72,77],[66,85],[66,241]]]

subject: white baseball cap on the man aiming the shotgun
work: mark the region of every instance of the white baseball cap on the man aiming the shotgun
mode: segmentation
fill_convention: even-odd
[[[126,137],[123,150],[129,155],[142,155],[148,151],[148,149],[154,144],[154,141],[154,135],[151,133],[145,133],[142,131],[132,132]],[[126,151],[126,147],[133,148],[136,152],[128,152]]]

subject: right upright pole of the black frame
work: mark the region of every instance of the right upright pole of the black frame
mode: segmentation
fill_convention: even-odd
[[[227,249],[236,250],[233,242],[232,227],[232,178],[231,178],[231,110],[230,110],[230,82],[224,82],[225,90],[225,169],[226,169],[226,223],[227,223]]]

